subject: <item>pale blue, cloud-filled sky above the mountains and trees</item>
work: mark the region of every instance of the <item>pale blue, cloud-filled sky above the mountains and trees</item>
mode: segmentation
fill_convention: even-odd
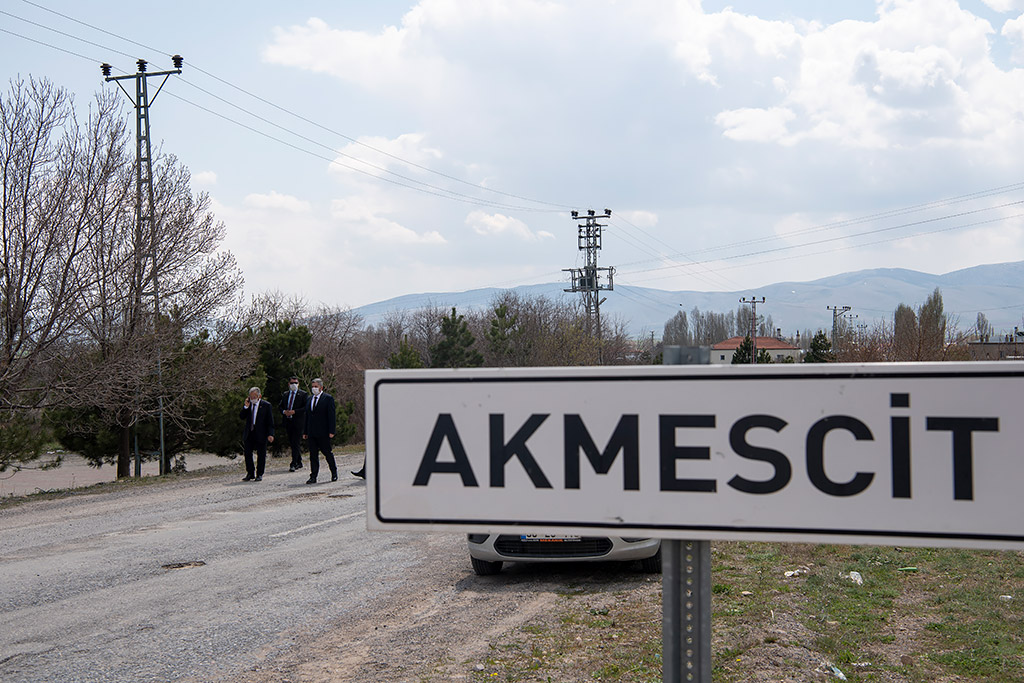
[[[100,62],[181,54],[153,137],[247,296],[562,282],[589,209],[615,284],[663,290],[1024,260],[1024,0],[142,7],[3,0],[3,88],[84,112]]]

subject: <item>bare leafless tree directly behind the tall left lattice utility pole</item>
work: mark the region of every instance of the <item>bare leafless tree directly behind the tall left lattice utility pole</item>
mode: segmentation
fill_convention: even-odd
[[[215,325],[242,275],[233,256],[219,250],[224,225],[210,213],[209,198],[191,194],[188,171],[173,156],[160,157],[155,231],[142,236],[131,168],[122,158],[121,187],[84,249],[92,286],[81,298],[89,314],[75,328],[74,371],[60,387],[66,430],[118,432],[118,476],[129,474],[132,427],[160,417],[183,445],[200,427],[194,409],[209,385],[230,384],[253,360],[237,328]]]

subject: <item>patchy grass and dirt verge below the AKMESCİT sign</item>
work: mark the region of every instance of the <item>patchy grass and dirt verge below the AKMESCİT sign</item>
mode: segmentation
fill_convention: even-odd
[[[660,681],[660,582],[605,569],[472,680]],[[716,682],[1024,680],[1024,553],[715,543],[712,574]]]

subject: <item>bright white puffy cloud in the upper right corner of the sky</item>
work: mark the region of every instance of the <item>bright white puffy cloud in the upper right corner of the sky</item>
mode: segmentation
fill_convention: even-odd
[[[755,91],[715,122],[743,141],[1001,154],[1008,138],[1024,139],[1024,101],[1009,94],[1024,87],[1024,72],[995,67],[993,33],[954,0],[879,0],[877,20],[811,24],[796,46],[759,48],[778,57],[767,75],[774,96]],[[1024,26],[1010,20],[1002,34],[1024,39]]]

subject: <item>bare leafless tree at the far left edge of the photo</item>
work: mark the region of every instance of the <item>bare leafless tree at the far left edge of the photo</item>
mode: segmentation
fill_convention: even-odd
[[[119,112],[99,96],[80,127],[71,96],[45,80],[0,96],[0,471],[37,455],[5,447],[3,426],[38,416],[66,370],[57,346],[92,311],[86,255],[124,194]]]

